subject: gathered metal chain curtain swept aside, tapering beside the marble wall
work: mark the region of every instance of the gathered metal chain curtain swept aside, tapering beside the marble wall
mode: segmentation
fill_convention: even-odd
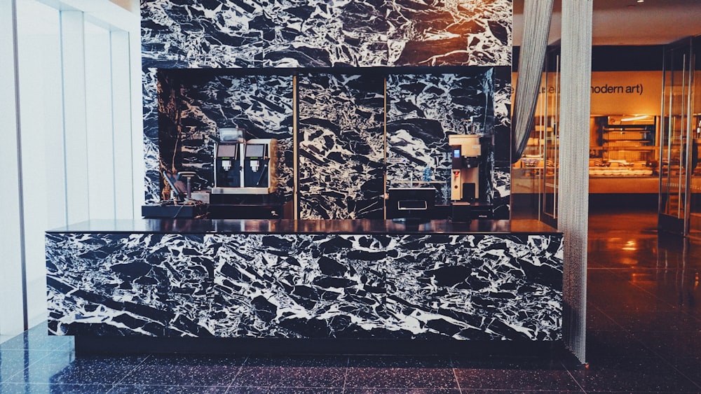
[[[553,0],[526,0],[524,3],[524,33],[512,120],[512,162],[517,162],[523,155],[533,128],[533,115],[536,113],[540,78],[545,64],[547,36],[550,33],[552,2]]]

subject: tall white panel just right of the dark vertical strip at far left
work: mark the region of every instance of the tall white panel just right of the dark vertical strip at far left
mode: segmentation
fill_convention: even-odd
[[[44,232],[65,224],[60,13],[18,0],[18,69],[27,316],[46,316]]]

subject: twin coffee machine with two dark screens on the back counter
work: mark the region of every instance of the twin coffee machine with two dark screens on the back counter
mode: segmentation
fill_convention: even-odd
[[[278,187],[278,140],[245,140],[243,129],[219,129],[212,195],[268,195]]]

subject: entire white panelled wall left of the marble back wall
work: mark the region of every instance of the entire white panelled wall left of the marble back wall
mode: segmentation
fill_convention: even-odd
[[[0,335],[46,320],[46,230],[140,216],[139,23],[108,0],[0,1]]]

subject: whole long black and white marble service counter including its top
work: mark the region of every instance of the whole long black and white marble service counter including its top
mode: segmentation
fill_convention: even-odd
[[[49,330],[550,342],[562,259],[535,221],[90,221],[46,232]]]

